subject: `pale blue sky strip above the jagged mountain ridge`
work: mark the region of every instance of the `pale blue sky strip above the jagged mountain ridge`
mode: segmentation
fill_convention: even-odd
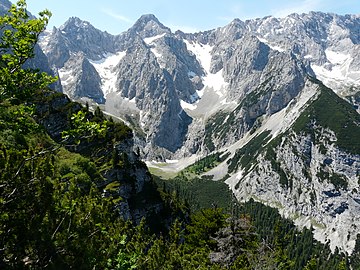
[[[149,13],[173,31],[184,32],[210,30],[234,18],[284,17],[308,11],[360,14],[359,0],[27,0],[27,4],[34,15],[45,8],[53,13],[49,27],[59,27],[76,16],[112,34],[127,30]]]

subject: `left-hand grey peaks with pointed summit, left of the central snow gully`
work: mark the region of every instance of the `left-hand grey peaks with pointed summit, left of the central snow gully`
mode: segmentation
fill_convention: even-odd
[[[117,93],[120,99],[135,101],[145,142],[153,146],[148,148],[174,153],[182,146],[191,118],[180,100],[198,99],[201,81],[188,74],[193,70],[202,74],[202,68],[185,43],[174,38],[155,16],[142,16],[119,36],[71,18],[40,44],[70,98],[105,103],[108,94]]]

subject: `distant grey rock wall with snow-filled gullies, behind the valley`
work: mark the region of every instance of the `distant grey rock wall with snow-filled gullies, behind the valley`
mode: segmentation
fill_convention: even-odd
[[[196,130],[199,122],[206,130],[219,112],[232,113],[232,132],[208,137],[218,146],[241,138],[256,119],[287,106],[307,74],[354,101],[356,88],[350,93],[340,85],[358,84],[358,25],[358,16],[309,13],[236,19],[216,30],[173,34],[154,15],[144,15],[128,31],[112,36],[70,18],[40,44],[71,98],[106,103],[108,94],[117,93],[134,101],[132,112],[124,103],[123,109],[107,108],[139,123],[145,157],[165,159],[194,149],[211,151]],[[349,65],[343,77],[329,80],[326,74],[340,70],[344,61]],[[193,145],[191,151],[187,145]]]

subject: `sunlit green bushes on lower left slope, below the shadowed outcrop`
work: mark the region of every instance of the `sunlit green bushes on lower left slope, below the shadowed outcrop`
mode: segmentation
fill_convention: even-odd
[[[0,144],[1,267],[104,268],[129,225],[96,187],[102,176],[95,163],[59,148],[38,126],[13,130],[34,123],[21,106],[2,104],[0,113],[1,133],[24,141]]]

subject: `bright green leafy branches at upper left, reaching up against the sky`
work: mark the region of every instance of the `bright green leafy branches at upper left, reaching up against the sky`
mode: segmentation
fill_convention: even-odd
[[[7,98],[24,100],[35,90],[56,80],[46,73],[23,67],[34,56],[34,46],[50,16],[51,13],[45,10],[37,19],[30,18],[25,0],[19,0],[0,17],[0,101]]]

